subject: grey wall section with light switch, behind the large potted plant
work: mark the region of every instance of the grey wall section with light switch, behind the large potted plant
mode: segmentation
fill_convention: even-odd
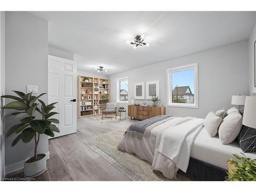
[[[11,90],[26,92],[26,85],[38,86],[39,93],[48,92],[48,22],[27,12],[6,12],[6,86],[5,93],[14,95]],[[48,96],[41,97],[46,103]],[[6,100],[10,102],[10,100]],[[6,110],[6,132],[19,123],[22,115],[13,117]],[[40,118],[40,116],[37,116]],[[19,141],[11,147],[16,135],[6,138],[6,174],[23,168],[23,161],[33,155],[34,140],[29,143]],[[42,135],[38,153],[48,153],[48,137]]]

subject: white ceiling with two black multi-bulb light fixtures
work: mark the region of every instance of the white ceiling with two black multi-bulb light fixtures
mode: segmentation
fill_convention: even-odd
[[[106,75],[248,38],[255,12],[30,12],[49,21],[49,45],[72,52],[78,70]],[[150,47],[126,40],[145,35]]]

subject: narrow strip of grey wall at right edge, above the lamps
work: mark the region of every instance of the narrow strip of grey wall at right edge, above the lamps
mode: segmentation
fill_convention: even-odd
[[[251,31],[248,40],[249,46],[249,94],[256,93],[256,88],[254,87],[254,42],[256,40],[256,23]]]

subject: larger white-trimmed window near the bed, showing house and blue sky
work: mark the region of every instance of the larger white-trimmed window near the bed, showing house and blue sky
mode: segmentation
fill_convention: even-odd
[[[198,108],[198,63],[167,69],[168,106]]]

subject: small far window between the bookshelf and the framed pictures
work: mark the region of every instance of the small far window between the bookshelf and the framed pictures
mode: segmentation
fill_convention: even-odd
[[[117,79],[117,102],[128,102],[128,78]]]

